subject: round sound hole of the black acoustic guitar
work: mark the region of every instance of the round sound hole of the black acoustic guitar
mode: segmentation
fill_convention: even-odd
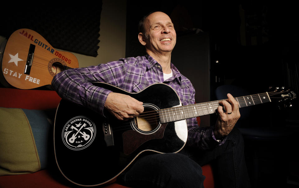
[[[158,107],[152,104],[143,104],[144,112],[134,118],[131,126],[141,133],[154,133],[160,127]]]

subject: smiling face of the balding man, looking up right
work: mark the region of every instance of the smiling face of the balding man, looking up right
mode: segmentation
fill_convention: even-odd
[[[167,14],[154,12],[145,20],[145,48],[153,53],[171,52],[176,43],[173,23]]]

